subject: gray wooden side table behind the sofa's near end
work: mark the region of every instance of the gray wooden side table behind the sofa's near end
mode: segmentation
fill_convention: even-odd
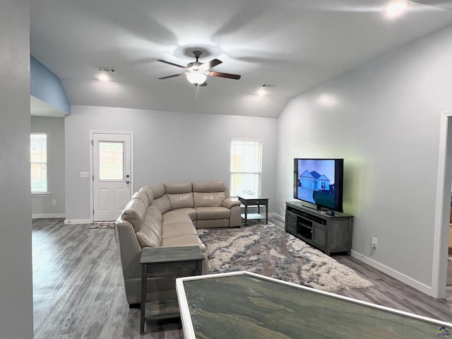
[[[146,302],[148,275],[150,273],[158,274],[153,272],[153,268],[157,266],[161,268],[162,264],[167,264],[165,276],[168,276],[169,270],[174,270],[174,275],[180,275],[181,272],[184,272],[183,276],[201,275],[203,260],[204,255],[199,246],[145,247],[141,250],[141,335],[145,333],[146,320],[172,319],[180,316],[177,299],[159,304],[157,311],[153,309],[153,302]]]

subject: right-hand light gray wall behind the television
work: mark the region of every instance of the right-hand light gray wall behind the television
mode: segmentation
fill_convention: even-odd
[[[432,286],[439,127],[441,112],[452,109],[451,60],[448,28],[291,100],[278,119],[278,213],[293,200],[294,157],[344,157],[354,255]],[[371,237],[378,238],[375,250]]]

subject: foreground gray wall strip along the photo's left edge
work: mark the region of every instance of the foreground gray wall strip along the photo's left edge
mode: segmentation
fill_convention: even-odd
[[[0,336],[33,337],[30,1],[0,11]]]

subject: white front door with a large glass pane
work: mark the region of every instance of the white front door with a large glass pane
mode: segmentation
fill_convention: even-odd
[[[114,221],[131,198],[132,134],[92,136],[93,221]]]

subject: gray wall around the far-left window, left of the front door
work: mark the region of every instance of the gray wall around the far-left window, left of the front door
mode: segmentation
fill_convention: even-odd
[[[31,117],[32,132],[47,133],[48,196],[32,196],[32,218],[64,218],[64,119]],[[57,200],[53,206],[52,201]]]

